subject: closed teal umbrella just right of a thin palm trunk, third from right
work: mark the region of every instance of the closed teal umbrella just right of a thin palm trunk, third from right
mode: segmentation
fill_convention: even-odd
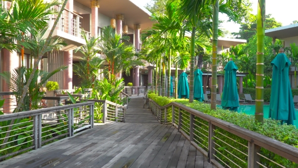
[[[200,69],[194,71],[193,99],[198,100],[200,102],[204,101],[202,74],[203,72]]]

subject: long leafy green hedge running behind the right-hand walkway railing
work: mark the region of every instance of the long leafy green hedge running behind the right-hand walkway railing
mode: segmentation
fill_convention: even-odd
[[[255,89],[249,88],[249,90],[247,90],[247,91],[253,91],[253,90],[255,91]],[[266,90],[267,90],[266,93],[267,92],[270,93],[270,91],[271,91],[270,89],[266,89]],[[294,92],[298,92],[298,91],[292,90],[292,92],[294,93]],[[264,91],[264,94],[265,94],[265,91]],[[255,94],[254,94],[254,96],[255,96]],[[223,109],[219,109],[219,108],[217,110],[211,110],[210,104],[205,104],[205,103],[198,102],[198,101],[189,103],[187,99],[169,99],[166,97],[159,97],[158,95],[153,94],[153,93],[148,94],[148,97],[150,99],[152,99],[153,101],[155,101],[156,103],[158,103],[160,106],[164,106],[172,101],[181,103],[181,104],[188,106],[190,108],[193,108],[195,110],[202,111],[205,114],[208,114],[208,115],[214,116],[216,118],[222,119],[224,121],[239,125],[242,128],[257,132],[259,134],[265,135],[272,139],[281,141],[283,143],[286,143],[286,144],[289,144],[291,146],[298,148],[298,130],[293,125],[280,124],[280,121],[273,120],[270,118],[269,119],[264,118],[264,122],[259,123],[259,122],[256,122],[254,115],[247,115],[245,113],[231,112],[229,110],[223,110]],[[253,95],[252,95],[252,97],[253,97]],[[187,113],[185,113],[185,114],[187,114]],[[189,117],[184,116],[185,114],[182,113],[182,120],[184,123],[186,122],[189,124],[189,120],[185,119],[185,118],[189,118]],[[202,124],[204,123],[205,125],[208,125],[207,121],[204,121],[204,120],[196,117],[196,121],[197,120],[200,121]],[[195,123],[195,124],[199,125],[200,123]],[[203,128],[202,124],[200,125],[201,128]],[[182,125],[182,129],[187,129],[187,128],[183,128],[183,125]],[[236,142],[244,144],[244,145],[248,144],[248,142],[246,140],[244,140],[240,137],[237,137],[237,136],[235,136],[227,131],[224,131],[222,129],[219,129],[219,128],[217,128],[215,132],[216,132],[215,135],[217,138],[223,140],[226,143],[230,143],[231,146],[237,147],[239,150],[247,153],[247,148],[242,150],[241,145],[239,147],[236,146],[239,144],[231,142],[231,140],[229,138],[235,140]],[[203,131],[203,133],[204,133],[204,131]],[[222,134],[226,135],[226,136],[223,136]],[[229,137],[229,138],[227,138],[227,137]],[[194,138],[196,138],[196,137],[194,137]],[[202,141],[203,139],[205,139],[205,140]],[[208,138],[205,136],[202,136],[201,139],[196,139],[196,141],[200,142],[202,144],[202,145],[198,144],[199,146],[205,148],[204,146],[207,146],[206,142],[208,142]],[[218,150],[221,150],[220,152],[224,153],[225,155],[230,155],[229,153],[225,152],[225,150],[235,152],[234,149],[230,149],[230,147],[227,146],[226,144],[224,144],[223,142],[221,142],[217,139],[215,139],[215,142],[222,146]],[[205,150],[206,150],[206,148],[205,148]],[[291,162],[279,155],[276,155],[273,152],[270,152],[269,150],[266,150],[264,148],[261,148],[261,154],[263,154],[264,156],[266,156],[272,160],[275,160],[276,162],[284,165],[285,167],[298,167],[298,164],[293,163],[293,162]],[[224,156],[222,156],[220,154],[218,154],[217,156],[221,160],[232,164]],[[245,155],[242,156],[241,154],[237,154],[237,157],[241,158],[242,160],[247,159]],[[233,159],[233,156],[230,155],[229,158]],[[238,159],[233,159],[233,161],[235,163],[237,163],[238,165],[240,165],[241,167],[245,167],[245,166],[247,167],[247,163],[245,163],[245,162],[239,161]],[[261,163],[266,165],[267,167],[276,167],[276,165],[272,165],[272,162],[269,162],[268,160],[265,160],[262,157],[261,157]]]

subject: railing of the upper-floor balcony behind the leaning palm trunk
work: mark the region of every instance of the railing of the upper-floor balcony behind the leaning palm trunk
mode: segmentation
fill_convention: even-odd
[[[56,11],[60,11],[61,7],[60,6],[55,6],[54,9]],[[79,37],[83,39],[83,36],[81,35],[81,32],[84,32],[87,36],[87,38],[89,39],[91,37],[91,33],[88,31],[83,31],[80,29],[80,19],[82,19],[83,17],[70,12],[67,9],[64,9],[61,18],[59,19],[59,22],[56,26],[55,29],[58,29],[60,31],[66,32],[70,35]],[[57,15],[51,15],[49,17],[49,29],[52,28],[55,20],[57,19]]]

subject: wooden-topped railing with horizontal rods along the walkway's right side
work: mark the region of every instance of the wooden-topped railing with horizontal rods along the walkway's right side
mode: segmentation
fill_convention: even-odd
[[[298,149],[182,104],[148,104],[161,123],[172,123],[218,167],[298,167]]]

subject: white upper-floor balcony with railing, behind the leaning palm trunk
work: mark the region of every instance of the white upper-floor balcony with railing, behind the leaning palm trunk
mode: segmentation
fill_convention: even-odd
[[[60,11],[61,7],[55,6],[54,9]],[[70,12],[67,9],[64,9],[61,18],[59,19],[58,24],[53,32],[53,36],[63,38],[67,44],[62,51],[74,50],[77,47],[85,45],[86,43],[83,36],[81,35],[81,32],[85,33],[88,39],[91,37],[90,32],[82,31],[80,29],[80,19],[82,18],[83,17]],[[51,31],[56,19],[57,15],[49,16],[47,34],[49,31]]]

